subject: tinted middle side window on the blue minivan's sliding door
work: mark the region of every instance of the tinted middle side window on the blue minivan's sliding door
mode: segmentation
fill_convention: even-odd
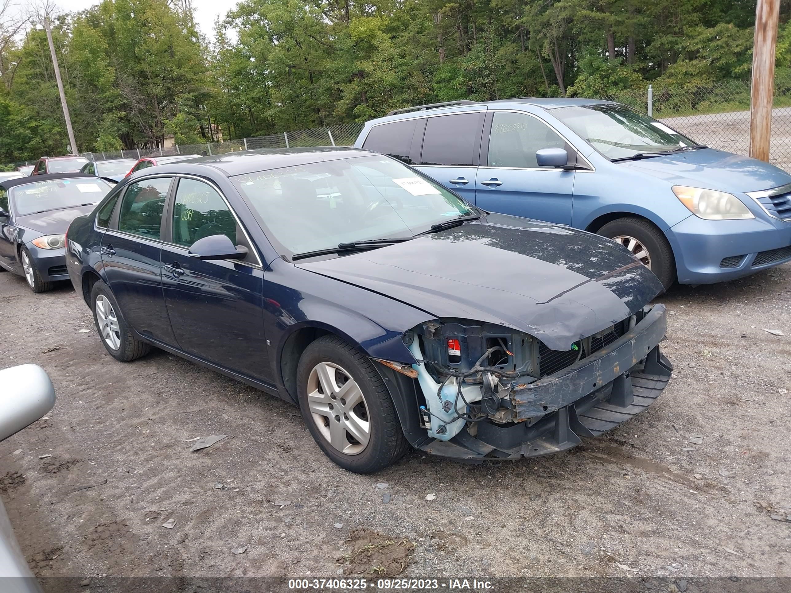
[[[421,164],[472,167],[475,140],[479,138],[479,113],[458,113],[430,117],[423,138]]]

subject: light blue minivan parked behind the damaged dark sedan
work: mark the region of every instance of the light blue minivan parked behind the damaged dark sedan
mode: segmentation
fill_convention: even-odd
[[[354,145],[411,164],[483,210],[610,237],[665,287],[791,260],[787,172],[611,101],[423,105],[365,123]]]

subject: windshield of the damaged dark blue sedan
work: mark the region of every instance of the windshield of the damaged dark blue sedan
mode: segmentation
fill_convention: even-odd
[[[431,225],[475,213],[438,183],[378,155],[232,179],[268,234],[293,254],[411,237]]]

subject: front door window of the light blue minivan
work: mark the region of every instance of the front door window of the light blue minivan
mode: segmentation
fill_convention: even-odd
[[[544,148],[566,148],[566,142],[540,119],[498,111],[492,118],[489,134],[490,167],[539,168],[536,151]],[[553,169],[554,167],[546,167]]]

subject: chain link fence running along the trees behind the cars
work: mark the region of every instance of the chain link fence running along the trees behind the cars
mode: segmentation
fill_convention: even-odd
[[[750,152],[749,81],[695,83],[676,87],[649,85],[647,88],[619,90],[592,98],[615,100],[646,111],[694,141],[712,148],[743,155]],[[346,123],[227,142],[84,153],[83,156],[93,161],[106,161],[176,154],[214,155],[248,149],[348,146],[354,144],[361,130],[361,123]],[[778,77],[774,82],[770,161],[791,171],[791,77]],[[33,162],[6,164],[0,166],[0,170]]]

